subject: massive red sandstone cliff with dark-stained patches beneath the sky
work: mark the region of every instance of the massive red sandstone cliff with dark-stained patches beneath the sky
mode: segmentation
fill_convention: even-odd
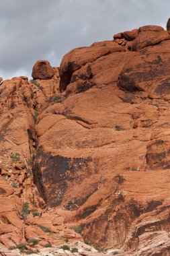
[[[169,255],[169,49],[144,26],[2,82],[1,246]]]

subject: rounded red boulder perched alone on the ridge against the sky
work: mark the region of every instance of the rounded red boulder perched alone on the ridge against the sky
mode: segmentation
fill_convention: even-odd
[[[37,61],[32,69],[32,77],[34,79],[50,79],[54,75],[49,61]]]

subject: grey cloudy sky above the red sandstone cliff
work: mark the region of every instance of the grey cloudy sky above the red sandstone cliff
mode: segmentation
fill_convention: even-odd
[[[0,0],[0,77],[26,75],[38,59],[60,65],[78,46],[144,25],[165,28],[169,0]]]

